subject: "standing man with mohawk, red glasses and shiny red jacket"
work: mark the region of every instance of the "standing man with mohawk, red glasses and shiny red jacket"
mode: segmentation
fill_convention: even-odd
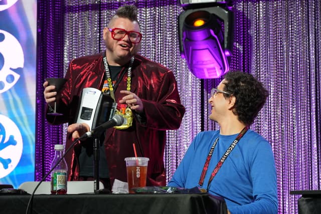
[[[137,54],[141,38],[136,7],[120,7],[103,30],[106,50],[72,60],[65,76],[67,82],[58,94],[53,92],[54,86],[44,83],[47,112],[57,101],[57,111],[63,113],[47,115],[47,120],[52,124],[69,123],[67,148],[72,139],[89,131],[88,125],[75,123],[83,88],[109,93],[118,113],[132,115],[132,123],[104,133],[99,177],[105,188],[111,188],[114,179],[127,181],[124,158],[134,156],[133,143],[138,156],[149,158],[147,185],[166,185],[166,130],[178,129],[185,113],[172,71]],[[78,142],[67,156],[69,180],[92,180],[92,142]]]

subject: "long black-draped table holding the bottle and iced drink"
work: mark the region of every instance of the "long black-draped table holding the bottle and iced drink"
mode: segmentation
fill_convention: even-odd
[[[1,213],[26,213],[30,195],[0,194]],[[29,212],[31,213],[31,212]],[[32,213],[219,213],[224,200],[208,193],[35,195]]]

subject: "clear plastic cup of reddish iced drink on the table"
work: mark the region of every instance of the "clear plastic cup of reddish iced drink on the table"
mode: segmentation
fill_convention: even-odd
[[[133,187],[146,186],[148,157],[126,157],[128,192],[135,193],[131,190]]]

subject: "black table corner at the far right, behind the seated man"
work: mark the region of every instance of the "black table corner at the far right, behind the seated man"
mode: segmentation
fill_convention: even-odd
[[[300,194],[297,201],[298,214],[318,214],[321,212],[321,190],[293,190],[290,194]]]

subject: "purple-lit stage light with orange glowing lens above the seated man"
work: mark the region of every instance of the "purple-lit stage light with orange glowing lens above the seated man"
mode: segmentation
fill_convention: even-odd
[[[197,78],[219,78],[229,70],[232,19],[232,12],[220,6],[180,14],[180,53]]]

